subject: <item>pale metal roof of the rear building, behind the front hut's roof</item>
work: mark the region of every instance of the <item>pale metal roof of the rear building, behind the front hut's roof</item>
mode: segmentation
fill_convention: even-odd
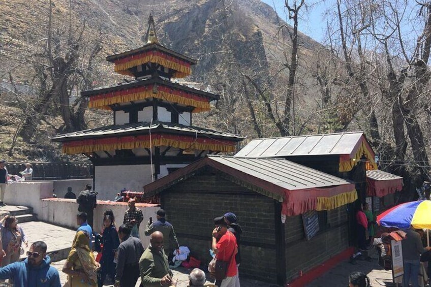
[[[362,132],[254,139],[235,156],[283,157],[297,155],[351,154]]]

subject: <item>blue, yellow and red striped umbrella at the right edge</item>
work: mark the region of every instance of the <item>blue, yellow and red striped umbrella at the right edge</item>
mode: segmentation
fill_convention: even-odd
[[[431,200],[418,200],[394,206],[377,216],[377,224],[384,227],[426,229],[429,246],[431,229]]]

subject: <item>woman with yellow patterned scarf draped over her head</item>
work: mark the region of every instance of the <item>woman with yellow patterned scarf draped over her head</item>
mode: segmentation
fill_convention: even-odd
[[[71,287],[97,287],[99,266],[90,249],[88,236],[84,232],[78,231],[73,239],[72,249],[65,266],[63,266],[63,272],[68,274],[69,285]]]

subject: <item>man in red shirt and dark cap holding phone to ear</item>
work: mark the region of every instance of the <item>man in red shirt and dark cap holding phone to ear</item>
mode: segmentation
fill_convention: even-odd
[[[228,230],[224,216],[214,218],[215,228],[212,231],[212,251],[215,258],[220,261],[227,261],[228,267],[226,278],[216,280],[215,285],[219,287],[239,287],[238,267],[236,266],[235,254],[237,252],[236,238]]]

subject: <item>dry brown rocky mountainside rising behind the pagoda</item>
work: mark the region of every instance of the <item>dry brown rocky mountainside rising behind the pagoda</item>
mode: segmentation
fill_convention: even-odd
[[[70,43],[70,39],[79,39],[75,46],[80,45],[80,55],[88,55],[95,42],[101,44],[102,49],[94,60],[93,87],[124,81],[125,77],[115,74],[105,57],[142,46],[150,14],[155,19],[159,41],[163,45],[198,59],[193,75],[184,80],[197,82],[203,88],[211,87],[215,93],[229,94],[227,106],[232,106],[242,97],[234,88],[240,85],[240,81],[234,79],[236,74],[253,75],[256,82],[266,83],[269,74],[282,70],[280,67],[286,63],[286,56],[290,52],[289,31],[292,28],[278,18],[270,6],[259,0],[52,0],[51,8],[52,18],[49,19],[47,0],[0,2],[0,59],[4,64],[0,66],[2,80],[13,79],[34,86],[37,82],[35,79],[40,77],[35,67],[44,67],[45,71],[49,71],[49,66],[41,64],[39,59],[46,54],[50,26],[54,35],[51,39],[52,53],[54,56],[62,54],[66,61],[72,52],[61,49],[74,47],[75,43]],[[287,29],[280,30],[282,25],[287,26]],[[320,48],[318,43],[302,34],[299,43],[299,57],[302,58],[310,58]],[[82,56],[81,68],[84,72],[87,65],[85,61],[88,61],[88,57]],[[305,75],[301,76],[302,81],[312,83],[313,77],[307,72],[308,68],[300,65],[298,69]],[[286,77],[287,70],[284,69],[280,75],[278,81],[283,83],[283,75]],[[231,86],[230,89],[225,89],[226,83]],[[277,84],[272,83],[273,86]],[[283,97],[283,92],[280,94]],[[255,96],[251,93],[245,94],[245,97]],[[312,99],[313,93],[307,97]],[[15,98],[6,101],[6,105],[15,103]],[[225,108],[216,105],[216,112],[197,115],[195,122],[244,136],[256,136],[243,106],[232,108],[232,111],[223,110]],[[225,120],[224,115],[233,111],[239,116],[230,121]],[[112,120],[106,113],[102,119],[88,112],[86,116],[89,127]],[[262,115],[261,121],[265,120]],[[7,125],[16,122],[17,119],[11,119],[0,123]],[[42,129],[40,132],[47,130],[46,123],[39,127]],[[48,124],[51,125],[48,134],[54,135],[58,133],[61,120],[53,118]],[[10,126],[4,132],[19,144],[19,137],[13,133],[14,127]],[[267,136],[270,135],[272,132],[269,129]]]

